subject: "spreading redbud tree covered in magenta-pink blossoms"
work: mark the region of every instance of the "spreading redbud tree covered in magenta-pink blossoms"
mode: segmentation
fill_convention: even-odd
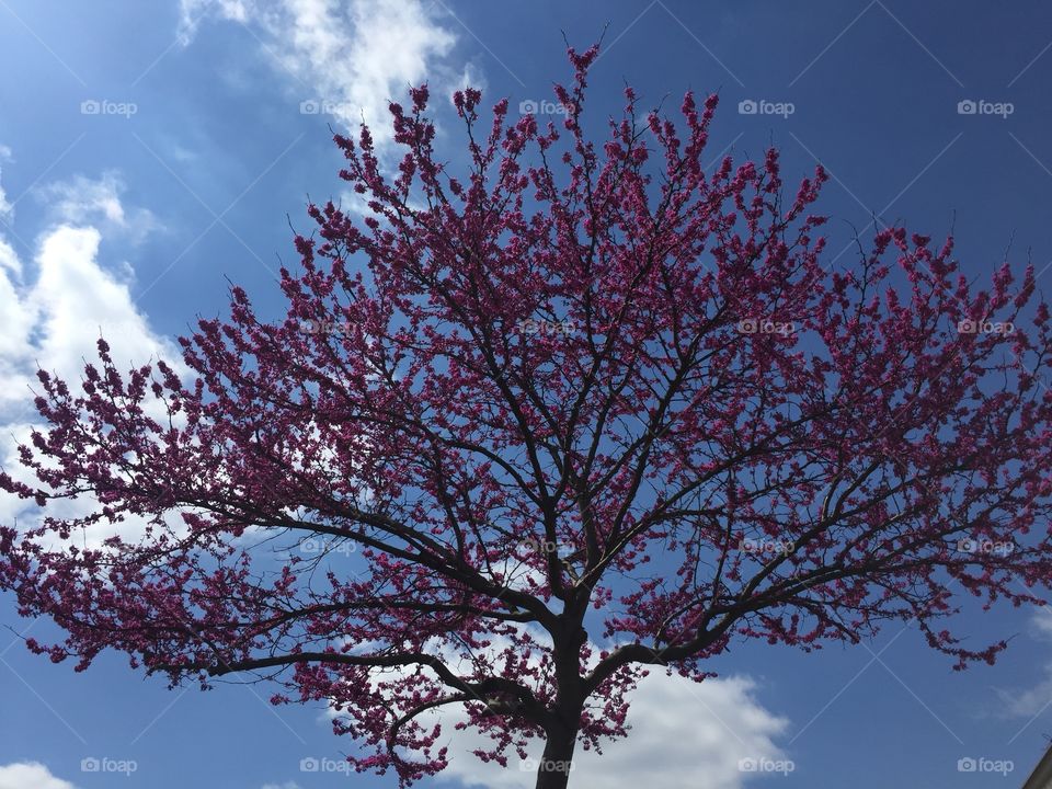
[[[940,622],[1052,578],[1032,270],[976,291],[951,241],[893,227],[827,272],[821,168],[791,201],[775,150],[707,172],[717,98],[689,93],[674,121],[626,89],[591,141],[596,54],[570,49],[558,128],[457,92],[460,178],[426,87],[390,105],[397,174],[338,135],[367,208],[310,205],[287,316],[232,287],[180,341],[188,376],[122,374],[103,340],[80,391],[38,374],[45,427],[0,477],[43,508],[0,533],[0,585],[64,631],[31,649],[273,678],[400,784],[446,765],[430,713],[457,706],[484,759],[544,739],[539,789],[627,733],[641,672],[704,681],[734,639],[915,619],[958,667],[994,660]]]

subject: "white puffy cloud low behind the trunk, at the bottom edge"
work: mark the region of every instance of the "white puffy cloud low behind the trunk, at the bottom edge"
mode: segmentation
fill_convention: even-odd
[[[741,759],[781,759],[774,737],[788,725],[756,701],[755,683],[747,677],[706,679],[697,684],[676,674],[655,672],[640,679],[631,694],[627,737],[603,746],[603,754],[578,746],[573,769],[586,786],[604,789],[704,786],[739,789],[753,775],[739,769]],[[453,731],[455,716],[445,713],[443,731]],[[459,719],[459,717],[456,717]],[[447,722],[448,720],[448,722]],[[465,787],[529,789],[533,771],[484,764],[471,751],[485,744],[478,734],[456,732],[449,739],[449,767],[438,777]],[[538,744],[530,753],[540,757]],[[699,782],[698,776],[705,780]],[[573,780],[571,779],[571,784]]]

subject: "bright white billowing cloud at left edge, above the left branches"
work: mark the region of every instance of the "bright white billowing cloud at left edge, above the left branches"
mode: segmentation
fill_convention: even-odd
[[[38,367],[76,386],[85,362],[98,364],[102,335],[119,368],[163,358],[183,370],[179,348],[150,328],[135,304],[124,266],[117,273],[100,260],[104,235],[126,239],[122,226],[140,215],[121,203],[119,179],[77,178],[48,190],[58,201],[57,224],[38,239],[32,265],[0,238],[0,466],[24,481],[31,472],[19,464],[16,445],[27,441],[36,418]],[[54,514],[75,516],[90,506],[62,502]],[[26,502],[0,495],[0,523],[36,515]]]

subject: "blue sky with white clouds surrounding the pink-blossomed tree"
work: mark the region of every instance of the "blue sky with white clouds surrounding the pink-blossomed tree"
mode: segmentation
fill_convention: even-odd
[[[718,91],[713,158],[773,142],[788,181],[816,159],[832,173],[827,260],[876,215],[936,238],[953,227],[970,275],[1008,250],[1052,287],[1052,11],[1036,0],[0,0],[4,441],[30,419],[32,364],[76,370],[100,328],[129,359],[165,353],[224,309],[227,277],[277,315],[289,224],[308,227],[308,195],[340,196],[328,125],[376,118],[424,80],[435,93],[467,80],[513,110],[551,100],[561,31],[583,47],[604,26],[596,116],[620,107],[622,79],[649,102]],[[446,112],[439,145],[455,158]],[[0,518],[15,514],[0,502]],[[19,619],[10,597],[0,625],[13,630],[0,631],[0,789],[393,785],[327,771],[334,762],[301,770],[352,747],[321,708],[273,708],[265,686],[169,691],[118,655],[75,674],[18,642],[47,626]],[[972,610],[958,629],[1015,638],[996,666],[964,673],[891,626],[813,655],[739,644],[716,666],[724,678],[700,687],[654,678],[636,734],[579,786],[1018,786],[1052,736],[1052,619]],[[741,771],[741,758],[794,769]],[[986,771],[959,771],[968,758]],[[469,755],[441,784],[472,782],[530,785]]]

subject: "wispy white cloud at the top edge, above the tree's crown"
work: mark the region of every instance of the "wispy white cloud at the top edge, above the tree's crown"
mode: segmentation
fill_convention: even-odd
[[[451,85],[456,36],[422,0],[181,0],[188,44],[207,18],[248,25],[264,54],[293,78],[298,101],[331,103],[350,128],[365,121],[378,145],[390,139],[391,99],[424,81]]]

